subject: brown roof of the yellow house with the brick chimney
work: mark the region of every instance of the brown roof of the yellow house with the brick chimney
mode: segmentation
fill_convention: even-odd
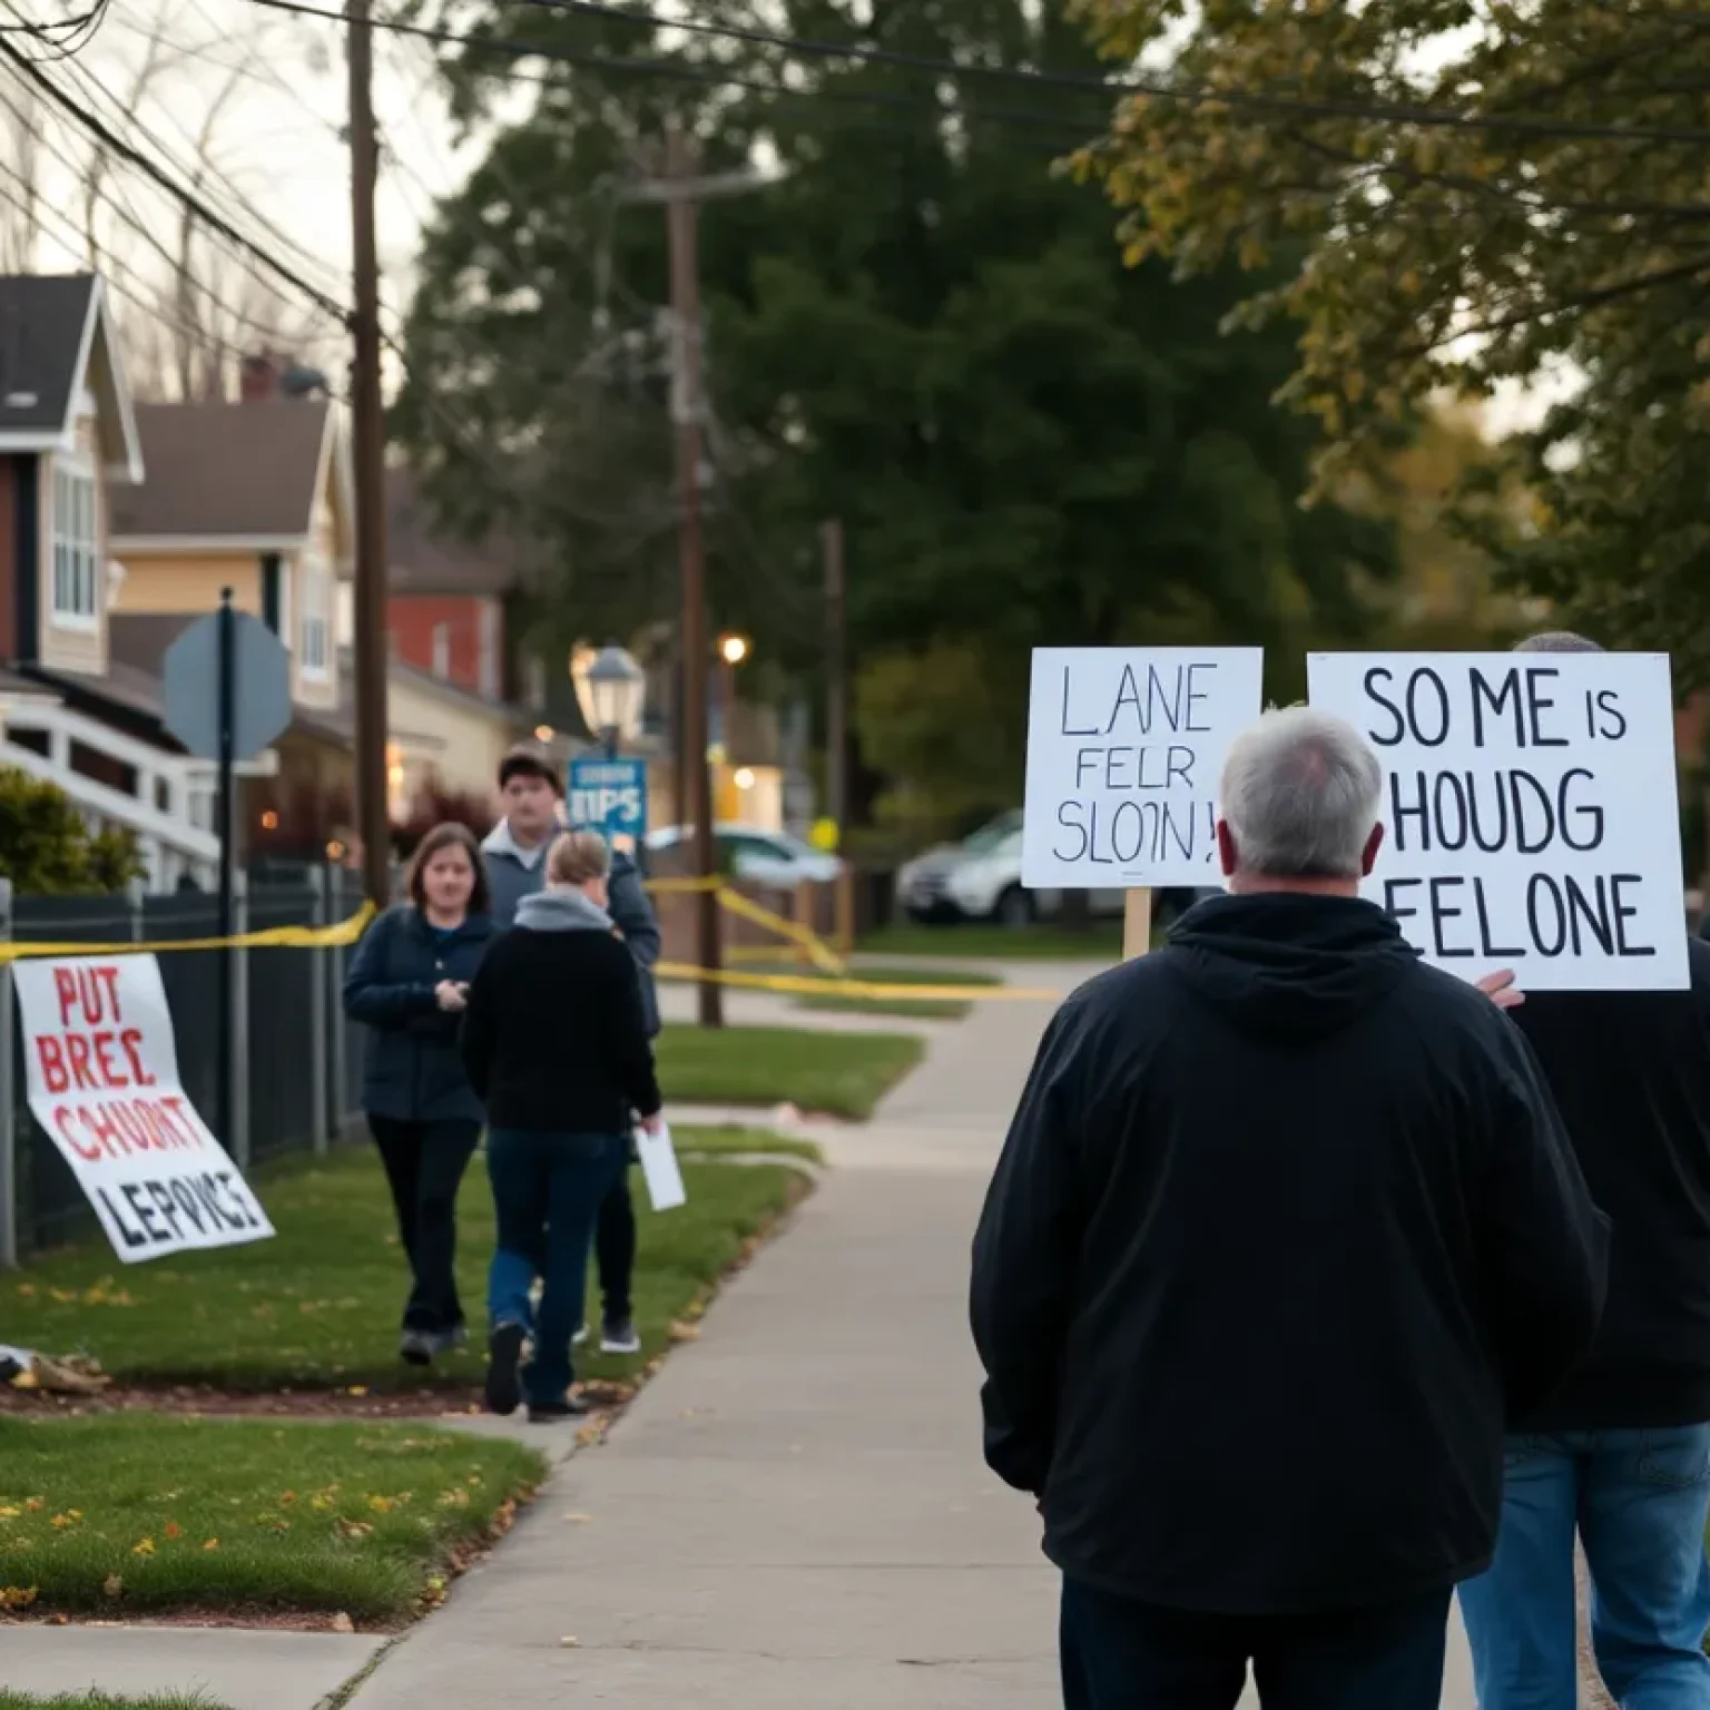
[[[323,398],[139,405],[149,479],[113,498],[115,551],[301,545],[333,455],[332,422]]]

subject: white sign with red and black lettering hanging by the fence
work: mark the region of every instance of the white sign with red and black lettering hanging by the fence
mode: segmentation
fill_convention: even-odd
[[[29,1108],[127,1264],[274,1233],[178,1081],[152,956],[14,963]]]

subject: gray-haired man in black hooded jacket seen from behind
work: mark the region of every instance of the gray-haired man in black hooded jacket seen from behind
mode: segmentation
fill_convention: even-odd
[[[973,1252],[994,1471],[1064,1573],[1069,1710],[1436,1710],[1503,1419],[1606,1229],[1518,1031],[1358,896],[1377,756],[1267,713],[1228,896],[1047,1028]]]

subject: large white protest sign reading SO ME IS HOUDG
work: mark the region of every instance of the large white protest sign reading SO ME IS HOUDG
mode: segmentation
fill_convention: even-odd
[[[1383,763],[1366,886],[1409,940],[1522,990],[1681,990],[1664,653],[1313,653],[1312,705]]]

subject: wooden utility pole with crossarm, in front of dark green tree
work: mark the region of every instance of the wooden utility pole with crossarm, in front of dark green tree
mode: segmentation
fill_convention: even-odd
[[[682,566],[682,766],[689,776],[694,817],[694,876],[711,881],[718,870],[713,840],[713,775],[706,754],[706,669],[711,638],[706,629],[706,554],[701,540],[701,280],[696,246],[699,207],[693,195],[694,149],[679,125],[665,137],[665,221],[670,236],[672,386],[670,412],[677,428],[677,554]],[[703,889],[694,898],[694,959],[701,968],[703,1028],[725,1024],[718,985],[718,898]]]

